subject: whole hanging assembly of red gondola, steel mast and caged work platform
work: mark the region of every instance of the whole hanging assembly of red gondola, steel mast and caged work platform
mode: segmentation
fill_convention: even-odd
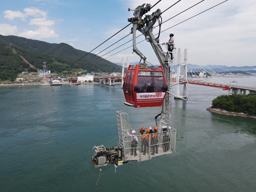
[[[137,65],[130,65],[128,72],[125,76],[125,82],[123,85],[126,105],[137,107],[153,107],[162,106],[160,114],[155,116],[155,123],[153,129],[156,126],[158,129],[157,142],[152,141],[150,138],[152,134],[148,134],[148,142],[145,144],[143,137],[140,134],[140,129],[135,128],[128,120],[128,114],[122,111],[117,111],[117,124],[119,132],[119,145],[113,148],[105,148],[104,145],[94,146],[94,155],[92,162],[95,167],[107,166],[113,164],[115,169],[118,165],[128,163],[132,161],[144,161],[150,160],[152,157],[165,155],[175,152],[176,144],[176,129],[170,127],[171,120],[171,105],[172,105],[172,60],[168,52],[166,44],[163,47],[166,48],[166,52],[163,51],[161,44],[159,44],[159,35],[154,37],[152,30],[154,23],[158,21],[159,27],[161,26],[160,15],[162,14],[160,9],[153,12],[151,15],[145,15],[151,9],[150,4],[143,4],[137,6],[135,10],[128,9],[128,11],[134,11],[134,17],[128,18],[128,22],[133,23],[131,33],[133,34],[133,51],[136,52],[143,63]],[[143,15],[145,15],[144,18]],[[146,64],[146,57],[136,47],[136,32],[140,31],[145,35],[146,40],[151,44],[157,58],[160,62],[160,66],[150,66]],[[160,34],[160,30],[159,30]],[[150,81],[150,83],[146,82]],[[141,85],[154,85],[154,90],[144,91]],[[158,90],[157,90],[158,89]],[[161,95],[161,96],[157,96]],[[147,98],[141,98],[140,96],[146,96]],[[151,97],[150,97],[151,96]],[[150,128],[144,128],[150,129]],[[132,151],[134,146],[131,145],[132,131],[136,131],[138,143],[136,150],[138,155],[133,155]],[[144,148],[144,150],[143,150]],[[154,153],[157,148],[157,152]],[[101,171],[101,169],[100,169]]]

